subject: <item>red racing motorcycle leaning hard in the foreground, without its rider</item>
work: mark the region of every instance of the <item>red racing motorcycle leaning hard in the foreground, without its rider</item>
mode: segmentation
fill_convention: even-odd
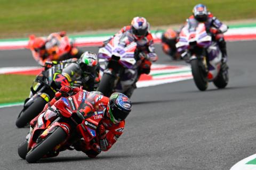
[[[53,106],[38,116],[34,128],[26,140],[19,145],[18,154],[28,163],[36,163],[45,157],[57,156],[60,151],[73,150],[74,143],[81,138],[90,150],[91,143],[97,142],[97,127],[103,112],[90,112],[84,115],[81,109],[88,107],[85,101],[93,103],[95,94],[80,91],[61,97]],[[82,112],[82,113],[81,113]]]

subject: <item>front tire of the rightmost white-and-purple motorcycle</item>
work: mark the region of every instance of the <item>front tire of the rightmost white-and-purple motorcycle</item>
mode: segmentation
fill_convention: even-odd
[[[208,81],[206,80],[206,77],[203,74],[202,68],[199,66],[199,61],[191,60],[190,64],[196,87],[201,91],[205,91],[208,87]]]

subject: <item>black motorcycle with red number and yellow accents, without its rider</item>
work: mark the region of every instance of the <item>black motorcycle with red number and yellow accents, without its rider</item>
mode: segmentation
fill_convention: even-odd
[[[43,110],[45,104],[51,101],[55,92],[61,86],[79,84],[78,81],[75,81],[79,75],[76,73],[70,74],[71,67],[77,67],[79,69],[76,63],[69,63],[65,67],[63,63],[60,63],[49,69],[45,67],[45,70],[37,75],[30,88],[29,98],[25,100],[23,109],[19,113],[15,123],[18,128],[23,128],[33,120]],[[73,77],[69,75],[73,75]]]

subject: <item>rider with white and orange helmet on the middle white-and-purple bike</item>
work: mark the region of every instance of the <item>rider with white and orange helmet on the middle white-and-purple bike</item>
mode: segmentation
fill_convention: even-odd
[[[136,54],[142,54],[144,56],[144,59],[142,60],[139,68],[137,81],[139,80],[141,74],[149,74],[151,62],[156,62],[158,60],[158,56],[155,53],[155,48],[153,46],[153,36],[149,31],[149,27],[150,25],[145,18],[137,16],[132,19],[131,25],[123,27],[119,32],[116,33],[116,35],[114,35],[118,35],[120,37],[124,33],[129,35],[129,38],[125,41],[125,44],[120,45],[125,46],[132,42],[135,42],[137,43]],[[112,38],[113,37],[103,42],[104,45],[106,45]],[[131,96],[135,88],[137,88],[136,83],[134,83],[133,86],[129,90],[127,90],[126,95]]]

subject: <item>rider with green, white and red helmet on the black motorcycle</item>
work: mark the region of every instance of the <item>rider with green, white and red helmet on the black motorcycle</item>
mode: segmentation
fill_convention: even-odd
[[[95,53],[84,52],[79,59],[45,62],[45,67],[63,65],[62,73],[71,82],[71,86],[83,86],[84,90],[93,91],[99,85],[99,63]]]

